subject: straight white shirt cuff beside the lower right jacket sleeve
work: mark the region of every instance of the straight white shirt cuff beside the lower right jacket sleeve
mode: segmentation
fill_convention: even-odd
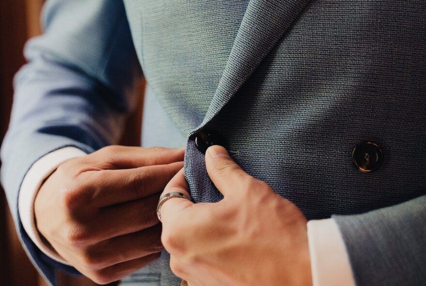
[[[307,223],[313,286],[355,286],[345,243],[334,219]]]

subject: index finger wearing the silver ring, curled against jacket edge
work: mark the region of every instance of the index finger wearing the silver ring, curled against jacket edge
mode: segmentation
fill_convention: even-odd
[[[188,183],[186,182],[185,175],[183,173],[183,168],[170,180],[170,182],[168,182],[160,198],[170,192],[180,192],[188,197],[191,197],[189,194]],[[171,198],[167,200],[160,208],[163,224],[165,222],[167,223],[170,218],[173,218],[183,209],[192,205],[194,205],[193,202],[184,198]]]

